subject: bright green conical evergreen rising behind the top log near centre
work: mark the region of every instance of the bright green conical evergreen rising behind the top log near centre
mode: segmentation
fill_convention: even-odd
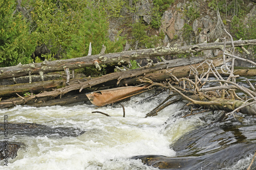
[[[116,37],[116,41],[108,38],[109,21],[102,6],[89,3],[80,15],[80,22],[76,25],[78,31],[71,36],[71,45],[67,48],[67,58],[88,55],[90,42],[92,42],[92,54],[99,54],[102,44],[106,46],[106,53],[122,50],[125,43],[123,37]]]

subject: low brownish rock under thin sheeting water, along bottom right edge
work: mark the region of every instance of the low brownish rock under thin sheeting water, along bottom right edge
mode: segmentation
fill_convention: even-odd
[[[162,155],[140,155],[132,159],[141,159],[148,166],[159,169],[221,169],[237,163],[254,153],[256,144],[239,143],[216,153],[202,156],[166,157]],[[248,165],[249,166],[249,165]],[[255,166],[255,163],[253,164]],[[251,168],[255,169],[255,168]]]

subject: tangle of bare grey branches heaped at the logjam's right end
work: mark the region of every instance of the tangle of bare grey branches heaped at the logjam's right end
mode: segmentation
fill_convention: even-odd
[[[181,79],[177,79],[176,77],[172,81],[167,81],[167,83],[156,83],[145,78],[142,79],[141,82],[151,83],[152,85],[150,87],[161,86],[169,89],[170,91],[174,91],[181,95],[183,100],[191,102],[193,104],[192,106],[196,106],[198,108],[223,110],[228,113],[226,116],[233,114],[236,111],[243,114],[256,115],[256,93],[254,92],[254,86],[248,80],[247,83],[252,90],[244,86],[239,86],[235,80],[224,80],[215,66],[211,64],[212,62],[208,63],[208,61],[206,61],[206,63],[208,65],[208,71],[205,71],[204,75],[199,75],[199,71],[195,67],[190,67],[191,72],[194,74],[193,81],[184,77]],[[249,69],[246,70],[246,72],[248,71]],[[213,74],[217,80],[208,81],[207,79],[210,73]],[[231,73],[233,75],[234,71],[232,70]],[[230,76],[230,73],[228,76]],[[236,77],[238,76],[232,76],[232,78]],[[203,80],[203,78],[205,79]],[[203,85],[207,82],[218,82],[220,85],[218,87],[204,88]],[[177,87],[177,84],[181,87]],[[254,100],[254,102],[248,103],[247,98],[245,100],[239,98],[239,96],[234,92],[235,89],[239,89],[244,94],[247,94],[250,97],[249,100]],[[191,94],[191,96],[188,96],[187,94]],[[161,105],[163,105],[163,103]],[[165,106],[163,105],[163,107]],[[154,116],[156,115],[155,112],[157,111],[152,110],[152,112],[148,113],[146,116]]]

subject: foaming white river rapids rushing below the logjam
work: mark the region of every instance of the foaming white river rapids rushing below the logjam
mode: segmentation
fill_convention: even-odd
[[[87,104],[2,109],[1,119],[8,115],[9,123],[71,127],[83,133],[78,136],[69,136],[68,131],[62,136],[57,132],[27,135],[21,130],[10,135],[9,141],[25,145],[18,150],[16,158],[9,159],[8,166],[3,166],[0,161],[0,169],[158,169],[130,158],[136,155],[175,157],[177,152],[170,145],[187,132],[210,122],[203,120],[202,114],[186,118],[178,116],[184,105],[182,102],[166,107],[157,116],[144,118],[168,95],[164,92],[141,103],[153,93],[142,93],[122,102],[125,117],[119,104],[98,109]],[[108,113],[111,117],[93,111]],[[253,154],[252,151],[225,169],[247,168]]]

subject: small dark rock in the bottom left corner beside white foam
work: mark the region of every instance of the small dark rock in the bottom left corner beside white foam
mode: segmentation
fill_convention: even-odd
[[[6,160],[9,158],[15,158],[17,151],[23,143],[9,142],[8,140],[0,141],[0,160]]]

